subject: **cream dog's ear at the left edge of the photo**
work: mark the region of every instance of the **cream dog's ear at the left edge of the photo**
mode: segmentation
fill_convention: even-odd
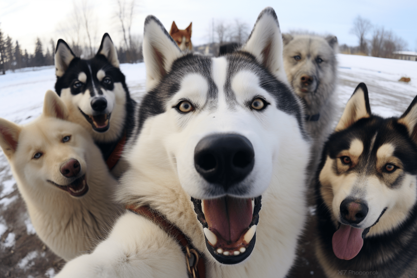
[[[5,155],[10,158],[18,148],[20,126],[0,118],[0,146]]]

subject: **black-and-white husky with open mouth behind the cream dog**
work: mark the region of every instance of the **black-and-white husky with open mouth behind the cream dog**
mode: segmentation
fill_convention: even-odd
[[[67,105],[68,120],[90,131],[109,168],[115,166],[130,135],[135,101],[119,69],[116,48],[106,33],[94,58],[75,57],[64,40],[55,51],[55,91]],[[122,163],[112,170],[120,175]]]

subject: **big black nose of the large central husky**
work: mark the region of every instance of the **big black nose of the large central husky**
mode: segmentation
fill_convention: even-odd
[[[214,134],[201,139],[196,145],[194,166],[205,180],[227,190],[251,172],[254,156],[254,148],[246,137]]]

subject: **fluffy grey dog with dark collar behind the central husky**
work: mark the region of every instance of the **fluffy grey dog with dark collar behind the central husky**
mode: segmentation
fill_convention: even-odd
[[[305,127],[313,139],[311,177],[319,164],[336,114],[337,38],[283,34],[284,69],[295,93],[304,104]]]

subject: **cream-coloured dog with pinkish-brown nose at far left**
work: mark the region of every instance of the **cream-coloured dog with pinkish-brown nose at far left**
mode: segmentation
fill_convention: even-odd
[[[43,242],[70,260],[106,235],[121,209],[113,202],[116,180],[80,125],[53,91],[43,114],[19,126],[0,118],[3,149],[30,219]]]

